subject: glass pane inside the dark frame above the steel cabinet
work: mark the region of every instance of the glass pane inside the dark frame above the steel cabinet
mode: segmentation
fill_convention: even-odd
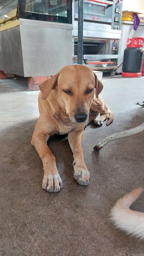
[[[25,12],[67,17],[67,1],[27,0]]]

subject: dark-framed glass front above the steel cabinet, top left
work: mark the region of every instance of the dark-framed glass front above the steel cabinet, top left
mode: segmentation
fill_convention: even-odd
[[[72,24],[72,0],[19,0],[21,18]]]

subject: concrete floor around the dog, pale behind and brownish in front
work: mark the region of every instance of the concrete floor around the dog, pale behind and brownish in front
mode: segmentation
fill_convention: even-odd
[[[0,80],[0,256],[143,256],[144,242],[115,230],[109,211],[125,193],[144,184],[144,132],[93,147],[104,137],[144,122],[144,77],[103,78],[102,97],[114,122],[84,131],[82,147],[90,185],[73,179],[65,138],[49,141],[63,188],[42,189],[42,161],[30,144],[38,119],[38,91],[26,79]],[[132,209],[144,212],[144,194]]]

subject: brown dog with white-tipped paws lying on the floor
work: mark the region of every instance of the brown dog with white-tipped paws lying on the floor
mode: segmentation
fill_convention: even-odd
[[[103,85],[86,66],[68,65],[56,75],[40,84],[38,107],[40,117],[32,136],[32,145],[42,159],[44,178],[42,187],[57,192],[62,180],[56,168],[55,157],[47,146],[53,134],[68,134],[68,142],[74,155],[74,179],[80,185],[88,185],[90,172],[84,163],[81,141],[86,123],[96,125],[113,114],[100,97]],[[100,113],[100,117],[96,116]]]

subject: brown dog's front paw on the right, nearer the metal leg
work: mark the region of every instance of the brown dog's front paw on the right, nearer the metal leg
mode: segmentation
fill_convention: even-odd
[[[75,167],[74,168],[74,179],[82,185],[82,186],[87,186],[89,184],[89,179],[90,179],[90,172],[88,171],[87,168],[80,168],[80,167]]]

